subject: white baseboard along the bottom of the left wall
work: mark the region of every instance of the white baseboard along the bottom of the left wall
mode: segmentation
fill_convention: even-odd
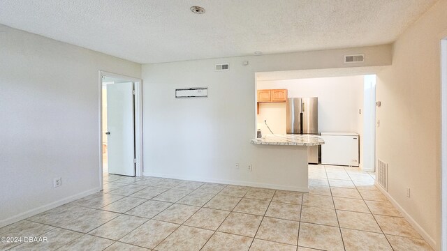
[[[45,211],[48,211],[52,208],[56,208],[58,206],[62,206],[64,204],[67,204],[71,201],[75,201],[76,199],[80,199],[82,197],[86,197],[88,195],[94,194],[95,192],[99,192],[101,191],[101,188],[94,188],[91,190],[87,190],[85,192],[80,192],[77,195],[72,195],[70,197],[66,197],[64,199],[59,199],[58,201],[54,201],[50,204],[46,204],[43,206],[39,206],[38,208],[33,208],[29,211],[23,212],[23,213],[19,213],[17,215],[14,215],[10,218],[6,218],[4,220],[0,220],[0,227],[5,227],[7,225],[13,224],[14,222],[18,222],[19,220],[24,220],[27,218],[30,218],[33,215],[36,215],[38,213],[43,213]]]

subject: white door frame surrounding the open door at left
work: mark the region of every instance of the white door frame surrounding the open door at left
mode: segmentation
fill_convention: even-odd
[[[116,73],[109,73],[104,70],[98,71],[98,109],[99,109],[99,181],[101,184],[101,190],[103,188],[103,77],[115,77],[119,79],[125,79],[126,81],[133,82],[135,88],[135,99],[133,105],[135,107],[135,176],[142,176],[142,79],[135,77],[129,77],[125,75],[119,75]]]

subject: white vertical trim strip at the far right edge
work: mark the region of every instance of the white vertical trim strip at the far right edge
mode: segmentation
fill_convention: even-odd
[[[445,34],[444,34],[445,35]],[[447,251],[447,37],[441,39],[441,250]]]

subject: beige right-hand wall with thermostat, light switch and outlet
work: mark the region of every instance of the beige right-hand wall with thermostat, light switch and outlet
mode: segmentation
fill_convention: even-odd
[[[377,157],[388,162],[388,193],[434,248],[441,241],[440,40],[447,1],[438,1],[395,42],[393,66],[378,74]],[[411,188],[411,197],[406,197]],[[445,240],[446,236],[444,236]]]

